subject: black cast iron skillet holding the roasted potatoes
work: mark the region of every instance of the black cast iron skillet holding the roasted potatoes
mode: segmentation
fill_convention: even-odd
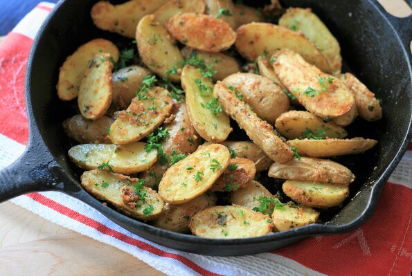
[[[80,171],[66,154],[71,146],[62,121],[71,115],[70,104],[57,98],[55,84],[64,59],[95,37],[114,42],[125,39],[98,30],[90,19],[97,0],[57,3],[35,38],[26,73],[26,104],[30,125],[28,147],[21,158],[0,172],[0,202],[28,192],[56,190],[96,208],[123,228],[163,246],[204,255],[247,255],[274,250],[303,237],[339,234],[361,226],[376,208],[388,176],[411,140],[412,74],[409,42],[412,17],[396,19],[373,0],[285,0],[285,6],[310,7],[341,44],[346,70],[357,75],[377,98],[384,118],[366,123],[357,119],[350,136],[379,140],[372,151],[343,158],[357,176],[351,199],[325,224],[250,239],[201,239],[154,228],[102,205],[79,183]],[[253,1],[251,6],[262,6]],[[352,160],[352,161],[350,161]]]

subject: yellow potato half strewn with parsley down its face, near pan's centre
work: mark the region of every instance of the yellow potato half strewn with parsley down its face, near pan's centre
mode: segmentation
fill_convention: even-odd
[[[186,104],[193,127],[207,141],[222,142],[231,133],[229,116],[222,112],[213,98],[213,82],[203,77],[197,68],[183,68],[181,85],[186,92]]]

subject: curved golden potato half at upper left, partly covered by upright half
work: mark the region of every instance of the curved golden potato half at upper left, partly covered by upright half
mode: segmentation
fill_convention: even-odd
[[[90,65],[90,60],[98,53],[109,53],[115,62],[118,61],[118,48],[106,39],[93,39],[80,46],[73,55],[66,58],[60,67],[59,82],[57,83],[57,95],[60,100],[77,98],[84,71]]]

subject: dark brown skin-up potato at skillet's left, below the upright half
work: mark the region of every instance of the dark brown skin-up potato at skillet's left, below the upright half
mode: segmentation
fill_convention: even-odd
[[[80,144],[105,143],[111,144],[107,134],[107,128],[113,124],[114,119],[102,116],[96,121],[86,120],[80,114],[75,115],[63,122],[66,134],[80,142]]]

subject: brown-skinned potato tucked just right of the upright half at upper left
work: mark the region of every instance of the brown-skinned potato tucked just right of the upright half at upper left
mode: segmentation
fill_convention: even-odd
[[[149,75],[150,71],[141,66],[127,66],[113,73],[113,97],[107,113],[112,114],[115,111],[126,109],[133,98],[136,97],[136,91],[139,91],[143,85],[143,79]]]

